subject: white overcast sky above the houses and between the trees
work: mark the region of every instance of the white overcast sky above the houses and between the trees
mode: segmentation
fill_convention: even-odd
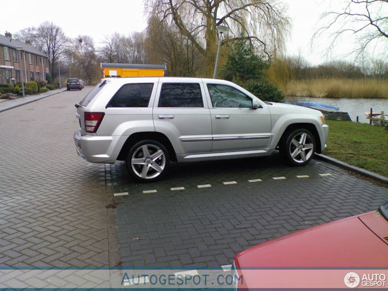
[[[317,20],[327,10],[332,0],[283,0],[288,4],[288,16],[293,23],[287,42],[287,53],[297,55],[299,51],[312,64],[320,64],[327,59],[326,40],[320,39],[311,47],[310,40],[317,28]],[[334,0],[334,3],[339,3]],[[8,10],[0,17],[0,34],[5,31],[16,33],[20,29],[39,26],[45,20],[60,26],[72,38],[78,35],[92,36],[99,45],[105,35],[114,32],[128,35],[133,31],[143,31],[147,25],[143,0],[81,0],[68,2],[18,0],[15,9]],[[336,4],[334,4],[336,5]],[[16,8],[19,7],[19,8]],[[342,40],[338,47],[343,48],[334,58],[344,59],[344,49],[351,46],[350,40]]]

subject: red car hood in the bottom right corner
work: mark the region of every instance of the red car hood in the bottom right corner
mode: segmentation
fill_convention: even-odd
[[[239,253],[237,268],[387,267],[388,222],[379,212],[345,218]]]

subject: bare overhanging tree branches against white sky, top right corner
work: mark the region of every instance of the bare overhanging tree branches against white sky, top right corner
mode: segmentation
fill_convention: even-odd
[[[315,31],[313,39],[329,32],[329,48],[344,35],[354,35],[359,47],[352,50],[359,57],[368,47],[388,42],[388,0],[343,0],[345,7],[339,11],[329,11],[320,17],[327,21]],[[336,1],[338,6],[338,2]]]

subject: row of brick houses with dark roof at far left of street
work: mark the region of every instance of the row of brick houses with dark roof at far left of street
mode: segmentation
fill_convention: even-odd
[[[0,83],[44,81],[49,72],[49,56],[28,43],[12,39],[11,33],[0,35]]]

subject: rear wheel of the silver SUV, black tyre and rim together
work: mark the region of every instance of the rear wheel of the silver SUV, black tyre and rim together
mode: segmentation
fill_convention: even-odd
[[[140,182],[153,182],[163,177],[170,165],[170,154],[156,140],[143,140],[133,145],[126,166],[133,178]]]

